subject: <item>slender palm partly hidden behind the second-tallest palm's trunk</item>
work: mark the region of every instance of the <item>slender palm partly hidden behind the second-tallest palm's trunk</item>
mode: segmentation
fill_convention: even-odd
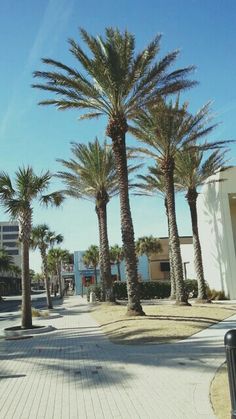
[[[176,283],[175,277],[172,267],[172,253],[171,253],[171,246],[170,246],[170,223],[169,223],[169,216],[168,216],[168,206],[167,206],[167,199],[166,199],[166,187],[163,175],[156,164],[155,166],[148,167],[148,174],[147,175],[138,175],[137,178],[140,180],[136,186],[136,195],[146,195],[146,196],[153,196],[153,195],[160,195],[161,198],[164,200],[166,217],[167,217],[167,225],[168,225],[168,237],[169,237],[169,263],[170,263],[170,283],[171,283],[171,292],[170,292],[170,299],[176,299]]]

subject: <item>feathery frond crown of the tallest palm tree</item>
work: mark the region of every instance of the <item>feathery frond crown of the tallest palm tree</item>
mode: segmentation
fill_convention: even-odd
[[[44,58],[43,63],[55,71],[35,71],[34,76],[45,83],[33,87],[55,93],[58,98],[43,100],[40,104],[55,105],[61,110],[91,110],[83,118],[106,114],[109,118],[123,115],[132,119],[154,96],[178,92],[195,84],[186,79],[193,66],[169,72],[178,57],[177,50],[154,62],[160,50],[160,35],[136,56],[135,38],[127,31],[121,33],[107,28],[105,37],[93,37],[81,29],[80,35],[90,56],[73,39],[69,40],[69,46],[84,74],[59,61]]]

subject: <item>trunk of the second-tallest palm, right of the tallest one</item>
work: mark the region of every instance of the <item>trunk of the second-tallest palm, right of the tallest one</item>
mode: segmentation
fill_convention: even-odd
[[[169,216],[170,246],[173,263],[174,278],[176,281],[176,304],[189,305],[183,279],[183,265],[180,253],[180,241],[176,222],[175,212],[175,191],[174,191],[174,161],[167,159],[162,165],[166,184],[166,202]]]

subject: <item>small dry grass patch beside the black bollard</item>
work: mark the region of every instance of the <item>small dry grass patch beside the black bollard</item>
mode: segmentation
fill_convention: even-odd
[[[218,369],[211,383],[211,403],[218,419],[230,417],[231,403],[226,363]]]

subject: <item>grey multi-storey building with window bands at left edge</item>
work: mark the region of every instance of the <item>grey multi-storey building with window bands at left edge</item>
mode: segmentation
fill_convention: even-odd
[[[17,222],[0,222],[0,248],[2,247],[12,256],[14,264],[21,267],[19,225]]]

